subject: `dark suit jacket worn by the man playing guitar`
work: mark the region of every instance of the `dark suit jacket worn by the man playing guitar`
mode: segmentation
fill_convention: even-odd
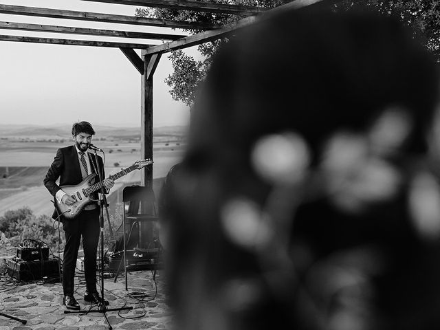
[[[95,157],[90,157],[91,162],[94,162],[96,167]],[[98,156],[98,163],[102,170],[102,178],[104,178],[104,168],[102,166],[102,158]],[[93,165],[91,164],[92,170]],[[96,167],[97,168],[97,167]],[[56,184],[56,180],[60,178],[60,185]],[[56,192],[60,190],[60,186],[80,184],[83,181],[81,175],[80,162],[78,160],[78,154],[75,146],[66,146],[65,148],[59,148],[56,151],[54,162],[47,170],[47,174],[43,180],[43,184],[49,190],[52,196],[55,197]],[[58,217],[56,210],[52,214],[52,218]]]

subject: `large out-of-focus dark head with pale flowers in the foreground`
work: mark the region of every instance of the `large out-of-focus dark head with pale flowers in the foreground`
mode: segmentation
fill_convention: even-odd
[[[437,80],[374,14],[284,12],[219,50],[171,248],[181,328],[440,325]]]

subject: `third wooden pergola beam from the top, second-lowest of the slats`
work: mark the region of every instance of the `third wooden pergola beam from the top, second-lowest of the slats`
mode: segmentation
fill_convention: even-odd
[[[21,31],[39,31],[39,32],[56,32],[67,34],[86,34],[92,36],[115,36],[120,38],[135,39],[159,39],[159,40],[177,40],[183,38],[182,34],[163,34],[163,33],[145,33],[145,32],[129,32],[118,30],[98,30],[89,28],[72,28],[68,26],[57,25],[41,25],[28,23],[1,22],[0,29],[21,30]]]

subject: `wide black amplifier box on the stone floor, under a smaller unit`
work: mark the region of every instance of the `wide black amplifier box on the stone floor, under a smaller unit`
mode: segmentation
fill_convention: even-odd
[[[13,278],[17,278],[18,281],[34,281],[43,277],[55,278],[59,281],[59,265],[58,259],[41,261],[6,259],[8,274]]]

